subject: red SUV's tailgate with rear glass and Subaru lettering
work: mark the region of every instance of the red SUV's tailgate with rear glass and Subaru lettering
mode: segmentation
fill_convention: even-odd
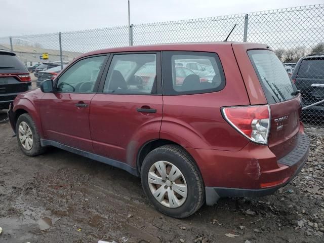
[[[301,96],[274,52],[265,45],[233,44],[251,105],[269,104],[271,125],[270,150],[280,159],[299,143]],[[251,48],[251,49],[250,49]],[[250,63],[247,62],[250,59]],[[252,64],[252,65],[251,65]]]

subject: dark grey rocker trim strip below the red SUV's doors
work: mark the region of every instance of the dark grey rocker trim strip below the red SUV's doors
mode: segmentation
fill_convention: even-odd
[[[45,147],[45,146],[57,147],[57,148],[66,150],[68,152],[75,153],[75,154],[78,154],[78,155],[81,155],[81,156],[84,156],[87,158],[91,158],[91,159],[99,161],[101,163],[125,170],[134,176],[139,176],[139,172],[136,168],[133,168],[133,167],[127,165],[126,163],[120,162],[118,160],[114,160],[114,159],[107,158],[107,157],[104,157],[104,156],[101,156],[98,154],[94,154],[94,153],[90,153],[90,152],[87,152],[84,150],[73,148],[73,147],[55,142],[53,140],[41,139],[41,145],[42,145],[42,147]]]

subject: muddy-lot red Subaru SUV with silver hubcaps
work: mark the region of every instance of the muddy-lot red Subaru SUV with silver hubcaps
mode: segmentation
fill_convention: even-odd
[[[209,71],[179,83],[179,62]],[[269,47],[225,42],[84,54],[19,95],[9,117],[26,155],[55,146],[124,169],[159,211],[184,218],[205,202],[266,195],[292,180],[309,149],[300,112]]]

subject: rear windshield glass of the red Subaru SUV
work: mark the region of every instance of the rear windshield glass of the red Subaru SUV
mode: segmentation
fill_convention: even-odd
[[[272,51],[251,50],[248,55],[269,104],[292,99],[294,87],[288,73]]]

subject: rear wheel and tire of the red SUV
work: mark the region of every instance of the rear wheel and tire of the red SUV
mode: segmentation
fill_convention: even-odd
[[[164,145],[149,152],[141,167],[141,182],[153,206],[174,218],[192,215],[205,202],[204,182],[197,165],[178,145]]]

